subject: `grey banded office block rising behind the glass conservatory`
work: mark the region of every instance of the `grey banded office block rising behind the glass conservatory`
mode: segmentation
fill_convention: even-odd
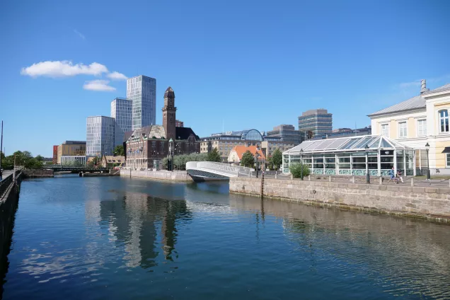
[[[299,131],[304,140],[329,134],[332,130],[333,114],[323,108],[308,110],[299,117]]]

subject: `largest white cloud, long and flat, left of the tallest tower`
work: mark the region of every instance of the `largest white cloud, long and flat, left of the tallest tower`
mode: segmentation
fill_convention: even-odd
[[[68,60],[38,62],[30,67],[22,68],[21,74],[26,76],[48,76],[64,77],[76,75],[101,75],[108,73],[108,68],[103,64],[93,62],[92,64],[73,64]]]

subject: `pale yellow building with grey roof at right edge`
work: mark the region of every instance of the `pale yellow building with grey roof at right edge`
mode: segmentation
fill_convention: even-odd
[[[381,134],[415,150],[417,168],[450,175],[450,83],[432,91],[422,80],[420,95],[369,115],[372,134]]]

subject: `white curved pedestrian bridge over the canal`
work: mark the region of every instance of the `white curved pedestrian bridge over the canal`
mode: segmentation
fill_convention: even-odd
[[[253,169],[212,161],[188,161],[186,171],[192,177],[226,179],[230,177],[250,177]]]

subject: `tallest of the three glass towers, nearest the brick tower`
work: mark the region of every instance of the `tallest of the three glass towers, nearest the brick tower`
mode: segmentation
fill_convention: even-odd
[[[127,79],[132,100],[132,130],[156,124],[156,79],[144,75]]]

